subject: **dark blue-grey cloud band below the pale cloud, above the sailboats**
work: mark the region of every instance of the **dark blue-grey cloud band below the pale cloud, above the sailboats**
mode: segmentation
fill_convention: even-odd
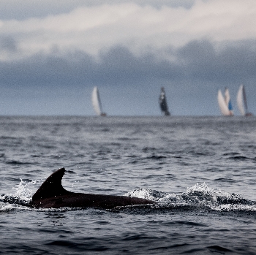
[[[143,80],[206,80],[225,84],[256,78],[256,52],[246,42],[216,50],[206,40],[193,41],[166,52],[168,55],[170,58],[162,59],[152,53],[135,56],[119,45],[99,54],[99,59],[82,51],[65,55],[38,53],[20,61],[2,61],[1,85],[115,85]],[[167,60],[172,58],[175,60]]]

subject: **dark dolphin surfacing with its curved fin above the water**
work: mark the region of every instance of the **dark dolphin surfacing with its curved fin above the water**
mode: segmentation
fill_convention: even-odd
[[[34,208],[103,208],[113,209],[117,206],[148,205],[156,202],[138,197],[111,196],[102,194],[83,194],[67,191],[61,185],[65,173],[60,168],[51,174],[33,195],[31,206]]]

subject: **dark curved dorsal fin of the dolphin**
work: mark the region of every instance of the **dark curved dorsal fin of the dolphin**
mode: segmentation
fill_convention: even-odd
[[[67,191],[61,185],[61,179],[65,173],[64,168],[60,168],[51,174],[37,192],[33,195],[32,201],[37,199],[45,199],[49,197],[57,197],[65,194],[70,194],[72,192]]]

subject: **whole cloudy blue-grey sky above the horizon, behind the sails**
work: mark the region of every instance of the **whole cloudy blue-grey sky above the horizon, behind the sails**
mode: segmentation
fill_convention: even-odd
[[[255,0],[0,0],[0,115],[256,114]]]

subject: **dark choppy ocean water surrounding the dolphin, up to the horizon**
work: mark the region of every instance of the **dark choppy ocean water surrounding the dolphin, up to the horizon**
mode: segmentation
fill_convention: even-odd
[[[45,178],[156,205],[34,209]],[[256,118],[0,117],[0,254],[256,254]]]

